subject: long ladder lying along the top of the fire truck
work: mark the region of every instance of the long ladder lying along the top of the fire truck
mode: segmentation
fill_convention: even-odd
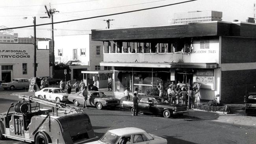
[[[19,96],[19,98],[21,98],[23,101],[27,100],[27,102],[32,103],[32,102],[36,102],[36,106],[34,106],[35,108],[38,107],[40,109],[40,105],[39,104],[43,104],[43,105],[48,105],[50,107],[52,107],[52,112],[54,112],[54,107],[56,107],[56,114],[58,116],[58,109],[62,109],[65,111],[65,113],[67,112],[72,112],[72,113],[82,113],[83,110],[78,108],[78,107],[72,107],[70,105],[67,105],[66,103],[61,103],[61,102],[56,102],[56,101],[52,101],[52,100],[46,100],[44,98],[39,98],[36,96]],[[31,104],[30,104],[30,111],[31,111]]]

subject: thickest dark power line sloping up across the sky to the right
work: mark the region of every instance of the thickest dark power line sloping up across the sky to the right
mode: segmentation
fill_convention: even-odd
[[[59,24],[59,23],[64,23],[64,22],[73,22],[73,21],[86,20],[86,19],[98,18],[98,17],[108,17],[108,16],[112,16],[112,15],[120,15],[120,14],[124,14],[124,13],[132,13],[132,12],[144,11],[144,10],[148,10],[148,9],[156,9],[156,8],[160,8],[160,7],[173,6],[173,5],[183,4],[183,3],[187,3],[187,2],[193,2],[193,1],[197,1],[197,0],[188,0],[188,1],[178,2],[178,3],[174,3],[174,4],[167,4],[167,5],[163,5],[163,6],[149,7],[149,8],[145,8],[145,9],[137,9],[137,10],[133,10],[133,11],[125,11],[125,12],[121,12],[121,13],[113,13],[113,14],[108,14],[108,15],[100,15],[100,16],[95,16],[95,17],[87,17],[87,18],[79,18],[79,19],[74,19],[74,20],[65,20],[65,21],[60,21],[60,22],[51,22],[51,23],[45,23],[45,24],[37,24],[35,26],[44,26],[44,25],[49,25],[49,24]],[[13,28],[4,28],[4,29],[0,29],[0,30],[10,30],[10,29],[17,29],[17,28],[28,28],[28,27],[32,27],[32,26],[34,26],[34,25],[19,26],[19,27],[13,27]]]

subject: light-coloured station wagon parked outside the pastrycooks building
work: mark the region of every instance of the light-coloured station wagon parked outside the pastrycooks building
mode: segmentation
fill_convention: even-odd
[[[13,79],[13,81],[9,83],[1,83],[1,87],[4,89],[20,89],[20,88],[28,88],[30,81],[28,79]]]

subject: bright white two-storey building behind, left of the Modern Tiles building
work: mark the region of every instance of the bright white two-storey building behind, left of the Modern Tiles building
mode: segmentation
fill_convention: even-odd
[[[111,69],[100,66],[103,61],[103,42],[91,41],[90,34],[56,36],[54,44],[55,62],[71,64],[71,81],[81,80],[81,71]]]

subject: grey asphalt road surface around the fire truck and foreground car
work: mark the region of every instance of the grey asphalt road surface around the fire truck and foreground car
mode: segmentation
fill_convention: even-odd
[[[25,90],[0,90],[0,113],[6,112],[10,103],[19,99],[12,92]],[[80,107],[82,108],[82,107]],[[132,116],[129,110],[85,109],[89,114],[95,135],[101,137],[108,129],[138,127],[148,133],[166,138],[168,144],[255,144],[256,128],[242,125],[200,120],[189,116],[163,118],[150,114]],[[17,140],[0,140],[0,144],[26,144]]]

